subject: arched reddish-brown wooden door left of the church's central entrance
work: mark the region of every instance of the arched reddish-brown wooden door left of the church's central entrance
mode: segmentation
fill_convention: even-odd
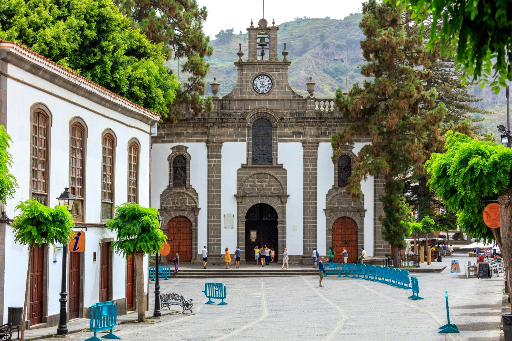
[[[167,261],[172,262],[176,253],[180,254],[180,262],[192,260],[192,223],[186,217],[174,217],[167,224],[167,238],[172,239]]]

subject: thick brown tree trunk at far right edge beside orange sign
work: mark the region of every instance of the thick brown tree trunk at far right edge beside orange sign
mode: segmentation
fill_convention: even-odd
[[[500,196],[498,202],[500,203],[500,227],[493,229],[493,235],[501,250],[510,294],[512,293],[512,188]]]

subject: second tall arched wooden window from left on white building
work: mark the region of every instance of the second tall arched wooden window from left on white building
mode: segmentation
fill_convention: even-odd
[[[69,188],[75,197],[71,216],[76,221],[83,221],[85,200],[85,152],[86,133],[83,125],[74,122],[70,129],[69,144]]]

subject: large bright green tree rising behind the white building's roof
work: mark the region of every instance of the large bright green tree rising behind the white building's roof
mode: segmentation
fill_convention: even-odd
[[[5,0],[0,39],[17,41],[163,116],[179,86],[163,46],[130,26],[110,0]]]

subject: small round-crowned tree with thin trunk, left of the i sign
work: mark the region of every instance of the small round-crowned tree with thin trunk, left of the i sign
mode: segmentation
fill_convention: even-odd
[[[25,319],[28,309],[27,299],[30,282],[30,263],[36,245],[66,244],[73,235],[75,222],[66,206],[55,206],[51,208],[41,205],[35,199],[20,202],[15,210],[19,209],[21,214],[14,218],[12,230],[14,241],[29,247],[29,264],[27,267],[27,283],[25,285],[25,303],[23,306],[22,340],[25,334]]]

